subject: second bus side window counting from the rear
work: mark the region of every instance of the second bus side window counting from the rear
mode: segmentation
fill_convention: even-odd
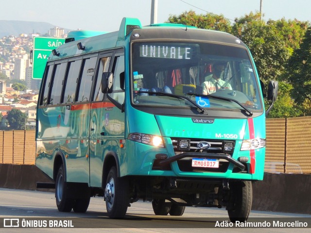
[[[59,104],[62,93],[62,85],[65,78],[67,62],[55,65],[55,72],[52,77],[52,89],[48,104]],[[50,85],[51,86],[51,85]]]

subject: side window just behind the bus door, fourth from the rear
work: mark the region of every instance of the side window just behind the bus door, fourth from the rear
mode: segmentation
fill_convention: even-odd
[[[82,72],[79,79],[79,91],[77,93],[78,102],[87,102],[91,94],[93,76],[96,66],[97,56],[83,59]]]

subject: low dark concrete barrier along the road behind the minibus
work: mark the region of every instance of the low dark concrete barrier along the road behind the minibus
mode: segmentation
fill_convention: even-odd
[[[36,182],[51,180],[34,165],[0,164],[0,187],[37,189]],[[311,214],[311,174],[265,173],[253,183],[252,210]]]

